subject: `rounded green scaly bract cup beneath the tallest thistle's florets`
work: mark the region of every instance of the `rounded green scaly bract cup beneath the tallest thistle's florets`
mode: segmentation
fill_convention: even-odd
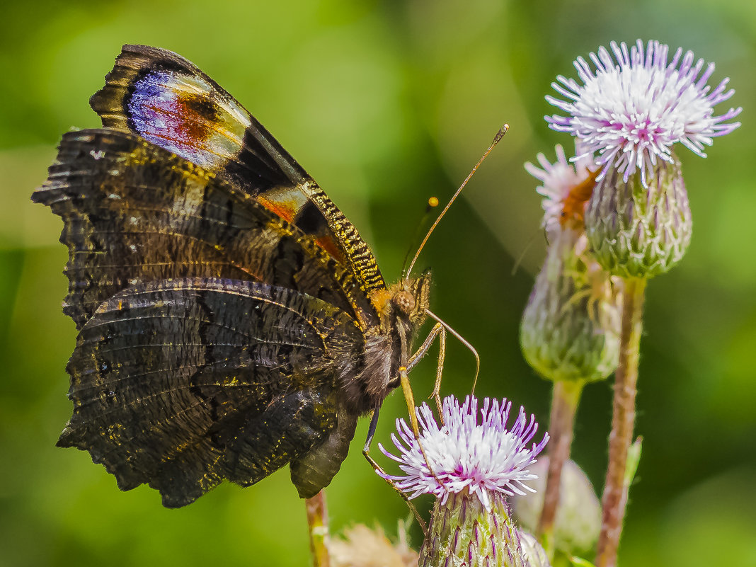
[[[690,243],[692,219],[680,163],[659,160],[643,187],[640,174],[623,181],[609,169],[593,189],[585,231],[596,261],[620,277],[664,274]]]

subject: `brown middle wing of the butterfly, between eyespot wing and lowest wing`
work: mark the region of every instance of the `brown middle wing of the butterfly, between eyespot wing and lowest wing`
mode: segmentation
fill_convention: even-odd
[[[354,278],[311,237],[129,132],[68,132],[33,199],[64,219],[64,311],[77,328],[119,290],[172,277],[257,280],[354,310]]]

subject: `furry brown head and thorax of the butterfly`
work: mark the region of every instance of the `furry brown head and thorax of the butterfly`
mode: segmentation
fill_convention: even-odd
[[[364,414],[380,406],[398,384],[398,371],[412,355],[417,330],[429,307],[431,274],[407,278],[374,292],[370,299],[378,314],[378,324],[365,332],[361,368],[340,376],[343,403],[349,411]]]

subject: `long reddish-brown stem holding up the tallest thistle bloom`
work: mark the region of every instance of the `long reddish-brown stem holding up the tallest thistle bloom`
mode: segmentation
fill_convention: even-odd
[[[609,465],[601,498],[601,534],[596,547],[596,567],[615,567],[627,506],[627,451],[633,442],[635,395],[640,357],[640,334],[643,330],[644,278],[624,280],[624,305],[620,336],[619,364],[615,373],[612,432],[609,434]]]

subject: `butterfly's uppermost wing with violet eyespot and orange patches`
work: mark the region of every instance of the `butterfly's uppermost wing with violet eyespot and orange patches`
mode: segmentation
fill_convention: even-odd
[[[362,295],[386,290],[370,248],[333,201],[240,103],[183,57],[124,45],[90,102],[104,126],[131,130],[203,166],[313,237],[352,271]],[[376,321],[370,305],[359,308],[365,321]]]

